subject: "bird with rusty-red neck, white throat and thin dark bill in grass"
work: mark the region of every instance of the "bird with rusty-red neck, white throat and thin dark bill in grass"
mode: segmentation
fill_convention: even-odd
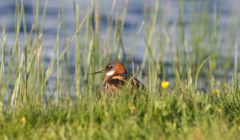
[[[98,73],[104,73],[102,91],[111,95],[127,85],[130,85],[131,89],[144,89],[144,85],[137,78],[128,74],[126,67],[121,62],[110,62],[103,70],[91,74]]]

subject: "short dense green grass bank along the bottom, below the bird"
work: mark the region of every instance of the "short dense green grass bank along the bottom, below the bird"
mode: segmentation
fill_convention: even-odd
[[[221,93],[83,96],[1,114],[0,137],[21,139],[238,139],[240,89]]]

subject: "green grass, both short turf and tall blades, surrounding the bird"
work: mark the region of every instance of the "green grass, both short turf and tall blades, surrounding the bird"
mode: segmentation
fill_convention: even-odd
[[[208,1],[205,2],[208,6]],[[238,53],[235,51],[233,57],[226,53],[228,57],[222,58],[217,38],[221,11],[216,10],[212,20],[208,8],[200,13],[190,8],[192,18],[186,25],[186,1],[182,0],[177,30],[171,35],[159,3],[144,7],[144,22],[129,44],[132,46],[129,54],[123,43],[128,1],[123,13],[117,15],[113,1],[103,39],[96,1],[91,1],[83,17],[79,15],[79,5],[73,4],[75,33],[72,35],[65,34],[65,13],[60,9],[53,48],[56,53],[49,63],[44,63],[47,54],[42,50],[43,29],[48,1],[43,11],[39,11],[38,1],[34,2],[35,21],[30,31],[26,29],[23,2],[17,1],[15,38],[8,38],[6,27],[1,34],[0,138],[238,139]],[[21,26],[24,44],[20,43]],[[190,38],[185,36],[186,28]],[[141,63],[136,65],[132,56],[141,34],[146,50]],[[8,46],[8,40],[14,44]],[[236,46],[233,50],[238,49],[235,42],[228,44]],[[165,53],[168,46],[176,48]],[[69,52],[73,49],[74,74],[69,71],[72,55]],[[124,89],[112,97],[99,98],[102,77],[88,74],[116,59],[131,65],[146,91],[130,94]],[[170,87],[161,87],[162,81]]]

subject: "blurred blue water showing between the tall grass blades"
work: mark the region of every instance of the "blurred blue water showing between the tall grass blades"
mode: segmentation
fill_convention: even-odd
[[[44,9],[45,1],[35,1],[35,0],[24,0],[25,5],[25,16],[26,16],[26,27],[27,31],[30,31],[32,26],[35,23],[35,13],[34,13],[34,5],[35,3],[39,4],[39,23],[41,23],[42,12]],[[51,57],[54,54],[53,48],[56,43],[56,34],[57,34],[57,26],[58,25],[58,14],[61,10],[64,11],[65,17],[65,25],[66,25],[66,35],[71,37],[75,32],[74,27],[74,12],[73,12],[73,0],[49,0],[48,8],[45,18],[45,26],[43,29],[43,62],[48,64],[51,60]],[[15,38],[15,0],[2,1],[0,4],[0,27],[5,28],[8,39],[7,45],[11,46],[14,44]],[[76,0],[76,3],[80,6],[80,16],[81,18],[86,14],[87,10],[90,8],[91,1],[90,0]],[[110,15],[112,8],[112,0],[96,0],[98,5],[99,13],[101,14],[100,19],[100,34],[101,38],[104,38],[107,29],[107,21]],[[136,34],[139,28],[146,22],[144,17],[144,8],[152,9],[155,6],[155,0],[129,0],[128,1],[128,10],[124,24],[124,32],[123,32],[123,41],[125,46],[125,51],[128,54],[129,46],[133,45],[132,40],[136,39]],[[207,3],[209,4],[208,7]],[[178,18],[179,18],[179,5],[181,5],[178,0],[159,0],[159,7],[161,9],[161,13],[163,15],[163,22],[167,25],[166,31],[168,31],[170,37],[173,40],[176,40],[176,32],[178,29]],[[232,47],[232,41],[239,42],[240,37],[240,29],[238,28],[240,17],[239,17],[239,0],[209,0],[209,2],[204,2],[203,0],[186,0],[185,8],[181,9],[183,11],[184,23],[186,24],[186,31],[188,30],[188,25],[191,22],[190,10],[194,7],[195,12],[209,12],[209,16],[211,20],[214,19],[214,14],[217,12],[220,17],[218,22],[219,27],[219,35],[218,35],[218,46],[224,48],[223,56],[226,54],[225,49],[228,47]],[[116,17],[118,14],[123,13],[123,9],[125,6],[124,0],[116,0],[116,8],[114,10],[113,23],[116,22]],[[229,30],[230,29],[230,30]],[[162,29],[159,29],[162,31]],[[21,26],[20,29],[20,41],[22,46],[24,46],[24,28]],[[63,40],[63,32],[61,32],[60,40]],[[186,32],[185,37],[188,39],[191,37],[191,34]],[[74,44],[72,44],[74,47]],[[144,32],[141,32],[140,35],[136,39],[136,53],[134,54],[134,59],[141,61],[142,56],[145,52],[145,41],[144,41]],[[163,46],[164,47],[164,46]],[[172,44],[172,46],[168,46],[166,48],[166,52],[164,53],[174,53],[170,51],[171,48],[178,47],[176,44]],[[207,47],[207,46],[206,46]],[[239,47],[240,48],[240,47]],[[238,49],[240,52],[240,49]],[[234,53],[234,52],[232,52]],[[70,66],[69,69],[74,73],[74,49],[69,49],[70,54]],[[240,56],[240,55],[239,55]],[[171,63],[171,62],[169,62]],[[171,70],[169,70],[169,75],[171,75]],[[53,76],[54,79],[54,76]]]

